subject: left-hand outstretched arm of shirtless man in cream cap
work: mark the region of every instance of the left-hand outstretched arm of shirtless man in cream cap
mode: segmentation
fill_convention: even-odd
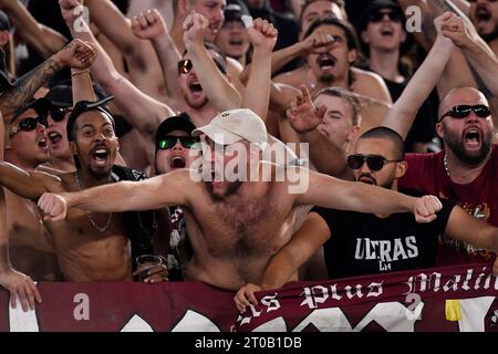
[[[44,194],[38,201],[48,220],[63,220],[69,208],[95,212],[152,210],[168,206],[189,207],[199,190],[189,170],[181,169],[143,181],[107,184],[77,192]]]

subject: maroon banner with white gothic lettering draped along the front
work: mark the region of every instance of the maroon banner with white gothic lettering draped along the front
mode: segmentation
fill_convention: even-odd
[[[490,264],[446,267],[261,292],[238,313],[232,292],[195,282],[39,283],[35,311],[9,306],[0,331],[491,331],[498,279]]]

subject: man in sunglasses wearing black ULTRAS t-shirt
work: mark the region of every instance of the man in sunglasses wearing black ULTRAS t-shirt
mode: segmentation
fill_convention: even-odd
[[[412,168],[403,156],[402,137],[387,127],[376,127],[359,138],[347,162],[356,181],[398,190],[398,179]],[[292,275],[300,264],[322,244],[329,279],[434,267],[439,233],[498,251],[498,228],[476,220],[452,201],[440,202],[437,218],[428,223],[415,222],[407,212],[314,208],[292,240],[270,260],[259,287],[247,284],[238,291],[234,298],[237,308],[243,311],[250,303],[257,304],[255,291],[295,280]],[[492,271],[498,274],[498,261]]]

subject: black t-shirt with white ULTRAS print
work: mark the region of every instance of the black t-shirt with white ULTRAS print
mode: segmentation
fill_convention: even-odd
[[[437,218],[428,223],[416,222],[412,212],[381,219],[373,214],[313,208],[331,231],[323,246],[329,278],[434,267],[437,238],[455,206],[444,199],[442,204]]]

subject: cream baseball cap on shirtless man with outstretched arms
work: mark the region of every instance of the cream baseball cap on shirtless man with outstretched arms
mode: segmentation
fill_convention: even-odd
[[[191,133],[193,136],[201,134],[206,134],[220,145],[230,145],[246,139],[260,149],[264,148],[268,138],[264,122],[248,108],[225,111],[214,117],[211,123]]]

